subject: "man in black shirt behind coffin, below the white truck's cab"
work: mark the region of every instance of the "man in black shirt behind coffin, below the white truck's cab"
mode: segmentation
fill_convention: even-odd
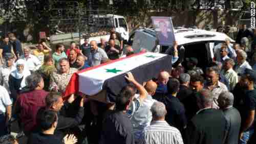
[[[106,54],[111,60],[119,59],[120,46],[115,44],[113,39],[110,40],[110,44],[105,47]]]

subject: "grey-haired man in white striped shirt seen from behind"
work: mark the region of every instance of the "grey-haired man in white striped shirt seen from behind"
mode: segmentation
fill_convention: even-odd
[[[181,133],[164,121],[166,115],[165,105],[155,102],[151,107],[153,122],[144,128],[139,144],[183,144]]]

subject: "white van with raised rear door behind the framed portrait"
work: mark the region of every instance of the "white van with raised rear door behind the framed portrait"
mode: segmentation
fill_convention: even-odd
[[[174,29],[175,39],[178,42],[178,51],[183,46],[185,49],[184,56],[180,56],[179,60],[174,64],[182,62],[183,59],[189,57],[196,57],[199,61],[198,66],[205,68],[214,60],[214,46],[225,42],[226,38],[230,39],[230,42],[234,42],[233,39],[228,37],[224,33],[212,32],[200,29]],[[131,33],[128,43],[132,45],[136,53],[141,49],[146,49],[152,52],[155,46],[156,32],[152,29],[139,29]],[[164,49],[161,53],[164,53]]]

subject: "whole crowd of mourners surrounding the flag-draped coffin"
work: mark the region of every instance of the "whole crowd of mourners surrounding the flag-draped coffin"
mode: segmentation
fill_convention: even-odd
[[[74,73],[134,54],[132,46],[124,48],[114,28],[108,41],[85,38],[68,49],[63,44],[53,49],[45,39],[36,48],[23,47],[13,33],[5,36],[0,47],[0,143],[18,143],[24,135],[28,144],[256,143],[256,30],[243,26],[236,43],[226,39],[215,45],[215,61],[205,69],[189,57],[143,84],[126,73],[129,84],[115,104],[85,94],[62,99]],[[169,49],[175,63],[177,42]],[[10,135],[14,122],[16,137]]]

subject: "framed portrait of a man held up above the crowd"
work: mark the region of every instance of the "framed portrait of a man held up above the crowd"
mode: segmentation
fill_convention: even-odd
[[[175,41],[172,17],[151,17],[160,45],[173,45]]]

